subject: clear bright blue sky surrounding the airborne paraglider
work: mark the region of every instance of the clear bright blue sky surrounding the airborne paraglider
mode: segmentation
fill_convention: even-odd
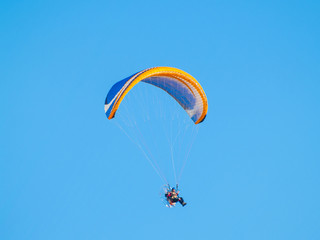
[[[318,1],[1,1],[0,239],[320,239]],[[208,116],[188,205],[104,114],[152,66]]]

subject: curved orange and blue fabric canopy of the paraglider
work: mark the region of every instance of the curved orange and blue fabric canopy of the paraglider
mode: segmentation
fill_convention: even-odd
[[[190,74],[173,67],[148,68],[114,84],[105,101],[108,119],[115,116],[123,98],[139,82],[166,91],[183,107],[195,124],[205,119],[208,104],[202,87]]]

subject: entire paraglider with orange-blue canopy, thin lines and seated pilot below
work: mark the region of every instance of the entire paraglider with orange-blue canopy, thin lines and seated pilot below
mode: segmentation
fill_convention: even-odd
[[[160,98],[157,98],[155,101],[143,99],[142,103],[140,103],[141,107],[138,108],[138,101],[130,100],[126,102],[128,105],[123,109],[124,112],[122,120],[124,124],[117,123],[117,125],[125,133],[125,135],[127,135],[127,137],[139,147],[161,180],[168,185],[166,178],[167,174],[163,173],[161,167],[159,166],[161,164],[156,161],[157,155],[153,154],[150,150],[152,147],[156,147],[160,142],[165,142],[157,142],[155,137],[156,134],[154,133],[156,129],[160,129],[160,126],[162,125],[163,131],[161,131],[159,135],[164,135],[164,139],[166,138],[169,143],[168,158],[171,159],[175,182],[178,184],[188,159],[190,149],[195,140],[195,135],[197,133],[197,127],[194,126],[197,126],[199,123],[203,122],[207,115],[207,97],[198,81],[193,76],[180,69],[173,67],[148,68],[115,83],[111,87],[107,94],[104,107],[105,114],[108,119],[113,119],[115,117],[118,110],[121,109],[120,105],[125,101],[125,98],[127,98],[126,96],[130,95],[131,92],[135,92],[136,90],[133,90],[136,89],[134,86],[140,86],[140,83],[147,83],[149,86],[151,85],[152,87],[163,90],[172,97],[171,100],[168,100],[170,102],[164,104],[162,98],[161,100],[159,100]],[[149,92],[149,89],[152,89],[152,87],[148,87],[146,94],[141,95],[158,95],[158,93],[153,94]],[[151,108],[152,111],[156,113],[155,115],[160,118],[158,122],[156,122],[154,119],[151,119],[150,114],[144,111],[144,109],[147,108],[148,104],[150,105],[151,102],[155,103],[151,106]],[[177,102],[182,107],[184,112],[187,113],[186,116],[192,120],[193,126],[190,125],[190,120],[185,118],[185,113],[181,113],[181,115],[183,115],[181,117],[178,116],[180,112],[176,108],[174,102]],[[163,107],[160,105],[158,106],[158,104],[161,103],[164,104]],[[133,109],[136,107],[137,109]],[[168,115],[168,108],[170,107],[173,108],[172,117],[166,117]],[[127,112],[125,112],[125,110]],[[141,120],[140,125],[137,123],[139,120]],[[174,125],[175,121],[177,121],[176,125]],[[165,133],[169,128],[170,132]],[[143,133],[144,130],[146,131],[146,134]],[[176,132],[173,134],[173,131]],[[147,135],[150,135],[148,134],[150,132],[153,133],[151,140],[155,142],[155,144],[152,144],[151,147],[148,146],[149,141],[146,140],[148,137]],[[190,137],[186,134],[190,134]],[[185,143],[187,141],[189,142]],[[174,155],[178,154],[178,150],[176,149],[182,149],[183,147],[185,150],[180,151],[184,156],[178,158],[183,158],[184,161],[180,164],[181,170],[180,175],[178,176],[176,173],[177,164]],[[164,154],[163,149],[160,152],[161,154]],[[186,205],[186,203],[183,201],[183,198],[179,197],[179,191],[175,188],[167,188],[164,195],[170,207],[175,206],[177,202],[180,202],[182,206]]]

